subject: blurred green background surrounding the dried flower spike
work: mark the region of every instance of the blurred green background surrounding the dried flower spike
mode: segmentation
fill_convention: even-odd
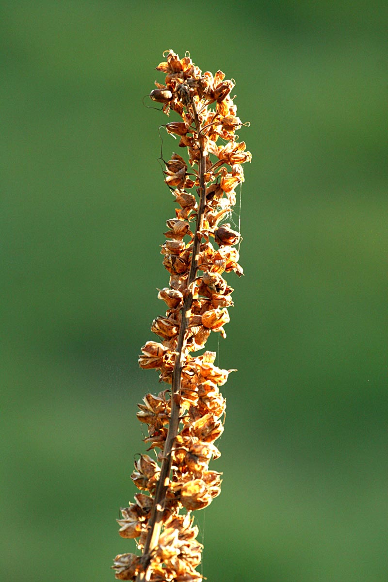
[[[162,51],[236,79],[253,161],[218,363],[209,581],[383,582],[387,544],[387,4],[2,0],[0,579],[109,582],[158,391],[173,201]],[[146,105],[152,105],[145,100]],[[163,153],[177,143],[165,137]],[[233,219],[238,223],[239,212]]]

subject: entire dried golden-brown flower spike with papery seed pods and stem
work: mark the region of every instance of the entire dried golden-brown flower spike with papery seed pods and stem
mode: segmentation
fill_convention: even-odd
[[[209,462],[220,456],[214,444],[225,412],[219,386],[231,370],[216,367],[214,352],[193,352],[212,331],[225,337],[233,289],[223,274],[240,276],[243,269],[234,246],[240,233],[221,222],[236,203],[241,164],[251,154],[236,141],[243,124],[230,97],[234,82],[221,71],[202,73],[188,55],[166,53],[156,67],[166,74],[165,84],[155,83],[150,97],[167,115],[172,110],[180,116],[165,127],[187,148],[188,162],[178,154],[165,162],[165,182],[179,205],[167,221],[161,251],[170,281],[158,297],[167,311],[152,323],[159,342],[142,347],[139,363],[158,370],[169,387],[138,405],[138,420],[148,427],[144,441],[157,455],[136,461],[131,478],[141,492],[118,521],[120,535],[137,538],[142,554],[116,556],[113,569],[119,580],[199,582],[202,545],[191,512],[220,492],[220,473],[209,470]]]

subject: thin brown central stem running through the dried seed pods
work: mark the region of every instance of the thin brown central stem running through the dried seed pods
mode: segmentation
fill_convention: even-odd
[[[198,206],[197,222],[195,224],[195,232],[193,239],[193,252],[191,255],[190,271],[187,278],[187,294],[181,309],[181,321],[179,328],[179,335],[177,339],[176,358],[174,369],[172,373],[172,390],[171,390],[171,414],[168,433],[163,448],[163,460],[161,467],[161,475],[159,477],[158,485],[156,486],[154,505],[152,506],[151,516],[148,521],[148,535],[143,549],[143,568],[137,576],[136,582],[149,582],[151,578],[151,570],[148,568],[151,561],[151,552],[158,545],[159,535],[161,534],[163,510],[166,499],[166,491],[170,481],[170,471],[172,464],[172,450],[175,439],[178,434],[179,427],[179,399],[175,395],[180,392],[181,371],[184,360],[184,348],[186,347],[186,332],[188,329],[188,322],[191,314],[191,305],[193,304],[193,291],[195,285],[195,278],[198,270],[198,258],[200,254],[201,235],[204,223],[205,210],[205,168],[206,168],[206,152],[204,151],[204,138],[201,136],[201,123],[198,119],[197,108],[192,100],[188,101],[193,111],[195,122],[195,129],[198,136],[198,147],[200,148],[201,156],[198,164],[198,194],[200,196],[200,204]]]

